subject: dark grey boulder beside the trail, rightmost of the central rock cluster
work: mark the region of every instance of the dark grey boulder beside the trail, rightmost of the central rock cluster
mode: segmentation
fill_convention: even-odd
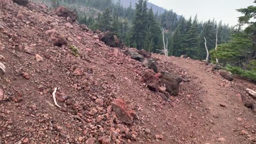
[[[178,95],[179,85],[182,79],[166,71],[163,71],[161,74],[162,77],[160,79],[162,84],[166,87],[166,92],[170,93],[170,95]]]

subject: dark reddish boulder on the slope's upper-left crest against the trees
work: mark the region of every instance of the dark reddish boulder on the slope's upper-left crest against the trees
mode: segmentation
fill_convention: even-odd
[[[17,0],[19,1],[19,0]],[[77,19],[76,13],[73,11],[68,10],[67,8],[65,8],[64,6],[59,6],[56,9],[53,10],[53,12],[55,14],[57,14],[59,17],[65,17],[68,18],[70,17],[70,19],[74,22]]]

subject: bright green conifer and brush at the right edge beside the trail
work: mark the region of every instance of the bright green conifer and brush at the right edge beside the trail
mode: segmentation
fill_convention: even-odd
[[[238,20],[238,30],[231,36],[230,42],[220,44],[217,50],[210,52],[212,62],[256,82],[256,6],[237,11],[243,14]],[[241,30],[243,25],[248,25],[245,30]]]

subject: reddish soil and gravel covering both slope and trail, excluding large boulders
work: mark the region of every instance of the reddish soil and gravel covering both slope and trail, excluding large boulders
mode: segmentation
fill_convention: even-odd
[[[201,61],[153,54],[159,70],[183,79],[178,96],[167,102],[143,83],[148,69],[142,63],[67,23],[44,5],[0,0],[0,62],[6,66],[0,73],[0,143],[99,143],[108,139],[103,136],[110,136],[109,143],[256,141],[254,112],[244,106],[254,104],[245,89],[255,90],[255,84],[228,82]],[[46,34],[52,29],[68,45],[54,46]],[[68,96],[58,101],[61,108],[54,106],[55,87]],[[116,98],[135,111],[132,124],[109,108]]]

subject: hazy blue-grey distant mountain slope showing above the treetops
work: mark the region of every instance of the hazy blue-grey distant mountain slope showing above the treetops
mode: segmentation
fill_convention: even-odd
[[[118,0],[114,0],[114,2],[117,2]],[[138,2],[138,0],[121,0],[121,4],[124,6],[124,7],[128,7],[130,5],[130,2],[132,2],[132,7],[135,7],[135,4]],[[148,8],[153,8],[153,11],[154,12],[157,12],[158,13],[164,13],[165,9],[163,7],[160,7],[160,6],[157,6],[153,3],[149,3],[148,2]]]

